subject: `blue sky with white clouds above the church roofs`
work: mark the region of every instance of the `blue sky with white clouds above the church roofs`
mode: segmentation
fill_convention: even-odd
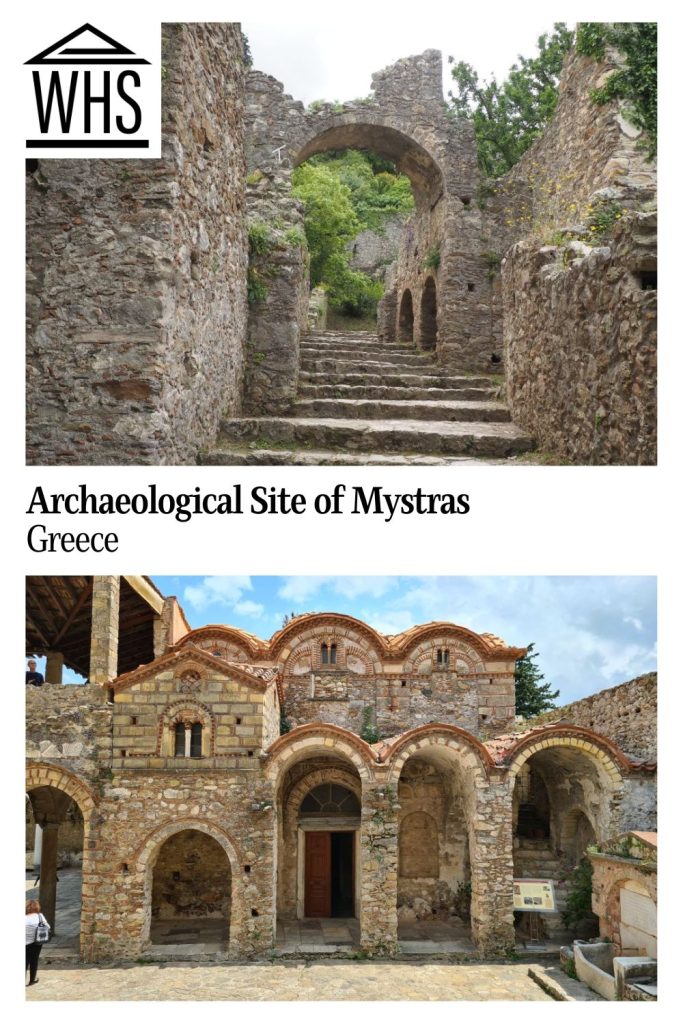
[[[189,624],[267,639],[288,612],[341,611],[381,633],[444,620],[536,644],[562,702],[656,668],[654,577],[153,577]]]

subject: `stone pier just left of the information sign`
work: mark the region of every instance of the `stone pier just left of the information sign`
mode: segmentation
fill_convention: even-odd
[[[472,941],[483,955],[514,947],[512,910],[512,800],[504,781],[477,790],[470,824]]]

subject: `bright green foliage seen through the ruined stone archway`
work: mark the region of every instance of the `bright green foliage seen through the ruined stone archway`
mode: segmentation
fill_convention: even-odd
[[[388,216],[413,209],[410,181],[387,161],[348,151],[311,157],[294,171],[292,183],[304,204],[312,287],[327,289],[333,309],[367,314],[382,285],[350,268],[346,246],[365,228],[381,229]]]

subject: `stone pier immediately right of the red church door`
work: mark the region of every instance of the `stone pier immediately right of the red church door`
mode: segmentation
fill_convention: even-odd
[[[394,952],[397,943],[398,800],[396,786],[362,783],[360,817],[360,945]]]

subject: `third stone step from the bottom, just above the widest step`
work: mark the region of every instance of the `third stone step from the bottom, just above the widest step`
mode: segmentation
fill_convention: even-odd
[[[411,420],[440,420],[446,423],[479,422],[509,423],[510,413],[499,401],[425,401],[411,402],[373,398],[300,398],[294,402],[295,417],[313,416],[323,419],[395,420],[401,416]]]

